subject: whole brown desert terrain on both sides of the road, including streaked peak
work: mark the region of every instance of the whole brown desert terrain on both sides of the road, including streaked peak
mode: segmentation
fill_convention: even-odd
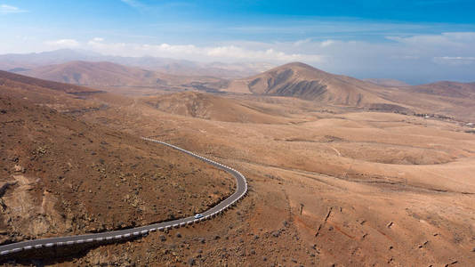
[[[48,83],[0,79],[3,242],[181,217],[233,190],[228,174],[140,136],[238,169],[250,192],[206,223],[6,265],[475,263],[471,84],[382,86],[301,63],[213,93]]]

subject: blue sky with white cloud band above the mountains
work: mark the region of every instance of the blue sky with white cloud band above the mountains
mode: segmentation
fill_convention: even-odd
[[[0,0],[0,53],[302,61],[358,78],[475,81],[475,1]]]

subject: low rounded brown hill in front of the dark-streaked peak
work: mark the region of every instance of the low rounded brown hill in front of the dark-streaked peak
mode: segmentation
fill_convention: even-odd
[[[263,113],[262,110],[232,99],[209,93],[184,92],[142,99],[149,106],[161,111],[211,120],[277,124],[285,122],[283,117]]]

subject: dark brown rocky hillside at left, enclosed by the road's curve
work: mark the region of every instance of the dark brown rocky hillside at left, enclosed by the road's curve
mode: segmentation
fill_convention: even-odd
[[[0,243],[191,215],[232,190],[231,177],[226,180],[201,161],[45,107],[36,99],[39,91],[53,94],[48,101],[61,94],[37,86],[45,81],[31,79],[28,85],[5,76],[0,80]]]

